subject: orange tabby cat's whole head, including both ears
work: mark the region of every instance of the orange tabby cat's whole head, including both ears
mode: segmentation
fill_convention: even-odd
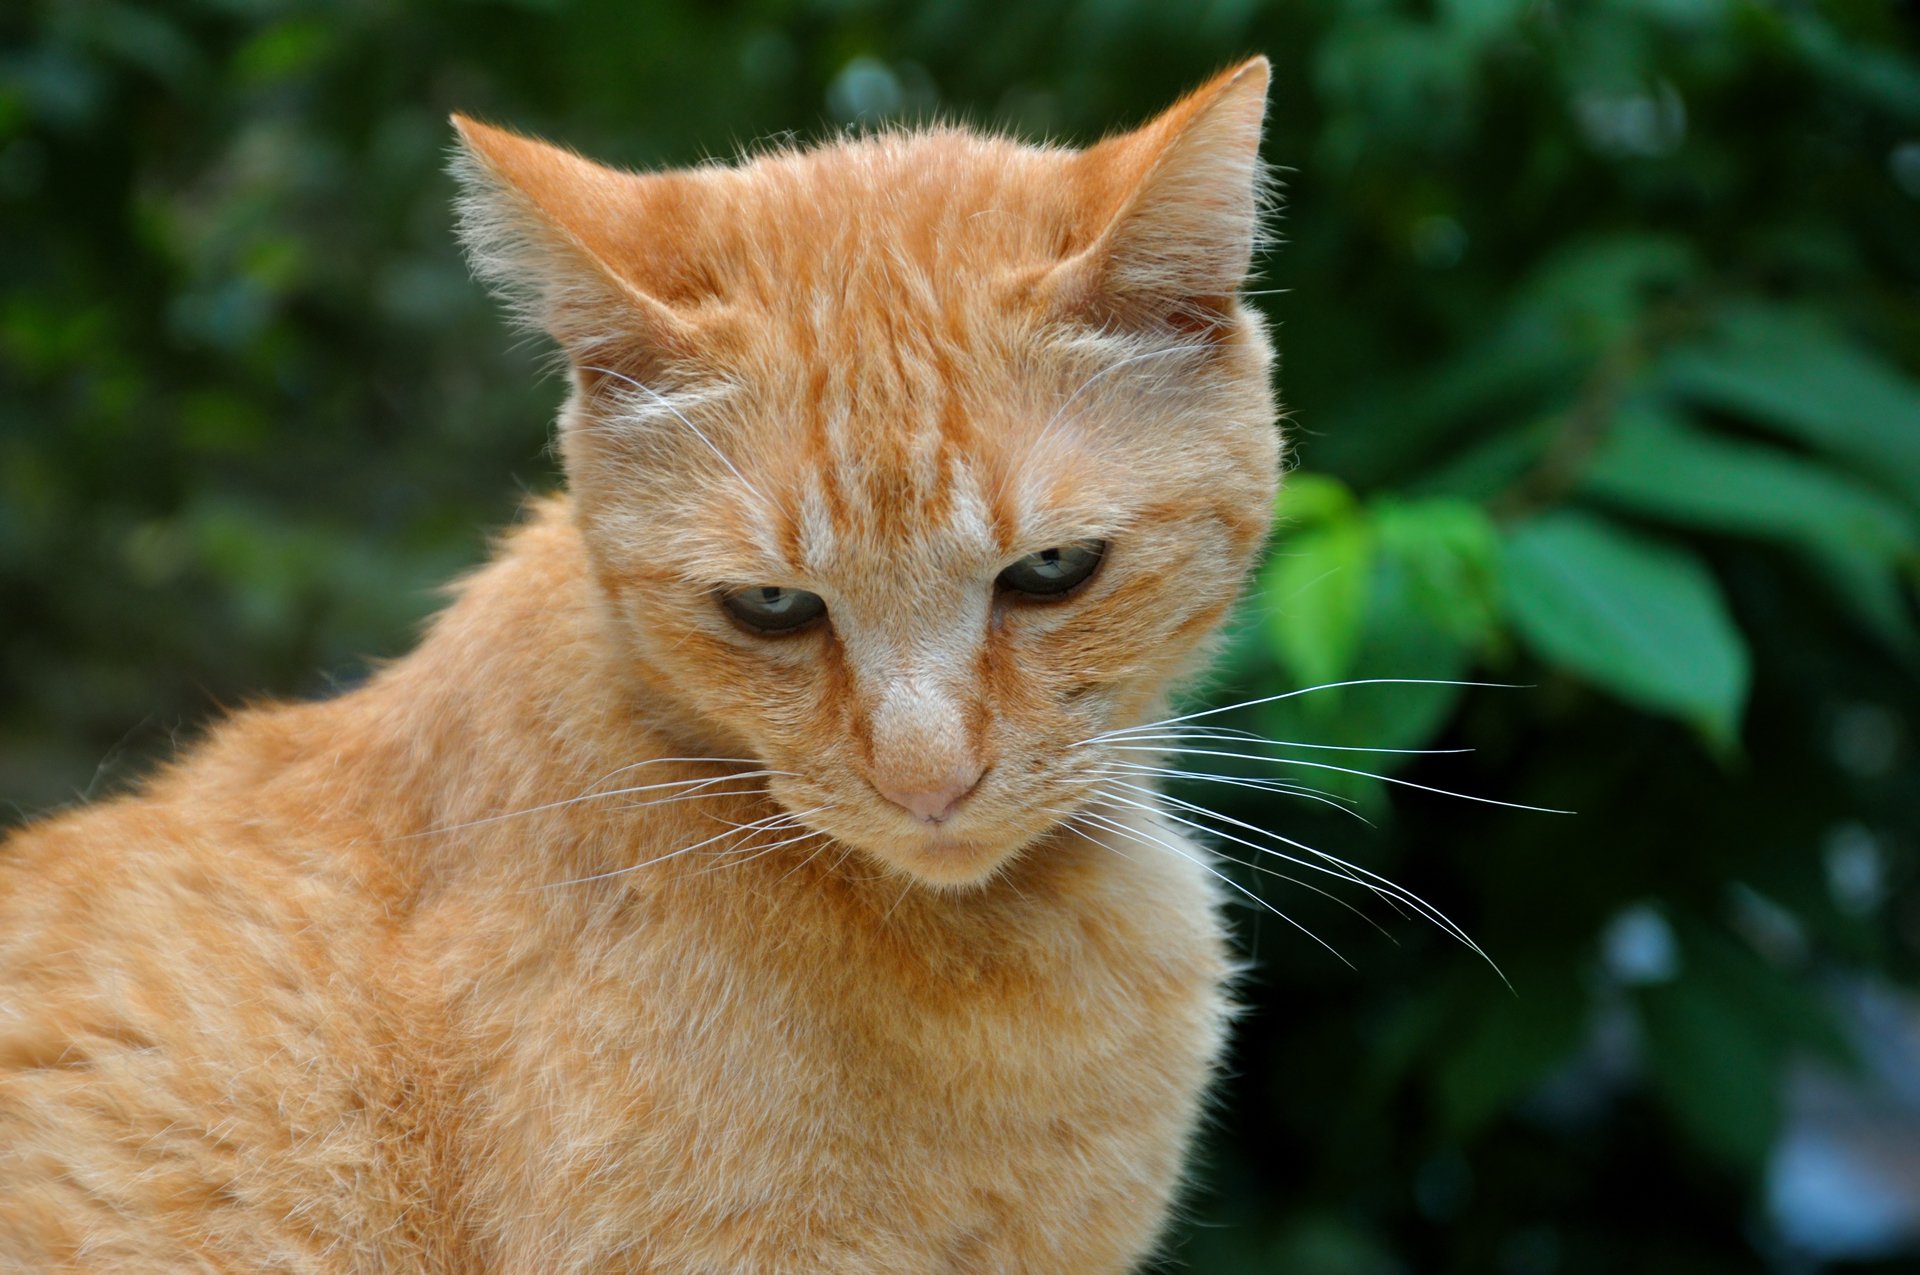
[[[1083,741],[1164,703],[1267,532],[1265,86],[1089,150],[647,175],[455,119],[468,250],[570,361],[580,528],[689,737],[939,885],[1087,801],[1123,755]]]

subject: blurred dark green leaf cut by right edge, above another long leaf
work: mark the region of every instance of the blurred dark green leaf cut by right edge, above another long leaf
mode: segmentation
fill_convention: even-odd
[[[1845,457],[1920,507],[1920,384],[1816,317],[1736,309],[1665,373],[1688,397]]]

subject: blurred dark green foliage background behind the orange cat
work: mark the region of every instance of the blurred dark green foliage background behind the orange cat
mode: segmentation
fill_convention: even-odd
[[[935,113],[1089,140],[1256,50],[1300,469],[1202,695],[1521,684],[1213,720],[1473,749],[1275,755],[1578,814],[1192,758],[1354,803],[1179,789],[1405,883],[1511,991],[1242,874],[1352,968],[1236,910],[1165,1267],[1920,1269],[1914,4],[15,0],[0,824],[349,686],[557,482],[449,109],[630,165]]]

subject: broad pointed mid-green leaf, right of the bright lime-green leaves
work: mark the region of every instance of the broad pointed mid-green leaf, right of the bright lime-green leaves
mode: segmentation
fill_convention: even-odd
[[[1549,513],[1507,538],[1503,601],[1548,662],[1732,743],[1747,649],[1713,576],[1678,545]]]

